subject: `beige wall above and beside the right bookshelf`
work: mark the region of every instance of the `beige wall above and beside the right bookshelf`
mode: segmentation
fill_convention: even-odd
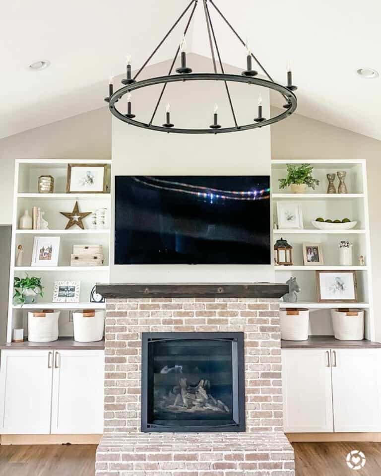
[[[272,115],[276,108],[272,108]],[[376,339],[381,340],[381,141],[293,114],[271,126],[273,159],[366,159]]]

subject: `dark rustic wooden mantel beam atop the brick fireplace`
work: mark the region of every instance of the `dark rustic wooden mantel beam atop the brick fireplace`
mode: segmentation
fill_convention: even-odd
[[[162,297],[242,297],[279,299],[288,292],[282,283],[118,283],[97,284],[97,292],[106,299]]]

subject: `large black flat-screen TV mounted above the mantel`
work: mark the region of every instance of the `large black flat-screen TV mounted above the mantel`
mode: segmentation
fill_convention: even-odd
[[[270,264],[268,176],[116,176],[115,264]]]

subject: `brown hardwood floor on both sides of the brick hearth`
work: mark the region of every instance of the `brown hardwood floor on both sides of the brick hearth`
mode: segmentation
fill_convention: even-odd
[[[296,476],[381,475],[381,443],[293,443]],[[0,476],[94,476],[95,445],[0,446]],[[352,450],[365,454],[361,470],[347,467]]]

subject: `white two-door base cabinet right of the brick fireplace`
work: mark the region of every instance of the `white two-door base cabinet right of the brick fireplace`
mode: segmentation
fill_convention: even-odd
[[[283,349],[285,432],[381,431],[381,349]]]

